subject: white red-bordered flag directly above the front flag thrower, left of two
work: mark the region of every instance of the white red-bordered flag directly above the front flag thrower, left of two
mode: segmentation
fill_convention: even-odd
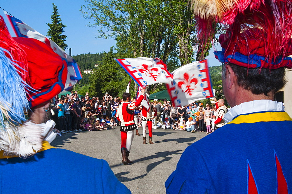
[[[159,58],[126,58],[116,60],[139,86],[171,83],[172,74]]]

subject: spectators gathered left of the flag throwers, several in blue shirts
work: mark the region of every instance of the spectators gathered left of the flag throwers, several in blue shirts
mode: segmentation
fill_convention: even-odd
[[[55,131],[58,134],[79,131],[100,131],[113,129],[119,125],[116,111],[121,103],[119,98],[113,98],[107,92],[100,100],[90,98],[88,92],[83,97],[78,92],[58,95],[51,99],[51,118],[55,120]]]

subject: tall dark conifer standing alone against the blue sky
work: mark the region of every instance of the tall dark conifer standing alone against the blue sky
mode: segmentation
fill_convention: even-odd
[[[51,15],[52,24],[46,23],[49,27],[47,36],[51,36],[50,39],[65,50],[67,48],[67,44],[65,43],[67,36],[62,35],[62,33],[64,32],[63,28],[66,26],[62,24],[60,16],[58,15],[57,6],[53,4],[53,15]]]

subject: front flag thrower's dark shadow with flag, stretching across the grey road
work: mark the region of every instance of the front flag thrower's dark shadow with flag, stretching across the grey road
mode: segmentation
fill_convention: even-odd
[[[144,176],[146,176],[152,169],[154,169],[154,167],[158,166],[162,162],[166,162],[166,161],[170,160],[172,157],[169,156],[169,155],[182,154],[182,153],[179,153],[180,151],[182,151],[182,150],[176,150],[176,151],[172,151],[172,152],[170,152],[170,151],[157,152],[157,153],[155,153],[155,155],[150,155],[150,156],[135,160],[134,162],[136,163],[136,162],[140,162],[140,161],[151,160],[151,159],[154,159],[154,158],[163,158],[161,161],[157,161],[157,162],[153,162],[153,163],[149,164],[146,167],[146,171],[147,172],[145,174],[140,175],[140,176],[136,176],[134,178],[128,178],[126,176],[123,176],[123,175],[129,174],[130,172],[128,172],[128,171],[127,172],[120,172],[120,173],[117,173],[115,175],[119,179],[119,181],[121,181],[121,182],[128,182],[128,181],[133,181],[133,180],[136,180],[136,179],[141,179]],[[116,166],[119,166],[119,165],[113,165],[113,166],[110,166],[110,167],[112,168],[112,167],[116,167]]]

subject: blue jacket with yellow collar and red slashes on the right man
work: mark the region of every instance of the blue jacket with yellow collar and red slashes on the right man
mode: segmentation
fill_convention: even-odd
[[[166,193],[292,193],[291,126],[284,111],[235,117],[184,151]]]

